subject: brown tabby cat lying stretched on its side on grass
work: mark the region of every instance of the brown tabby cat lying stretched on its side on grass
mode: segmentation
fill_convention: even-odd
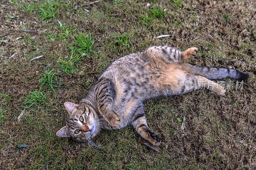
[[[117,59],[78,104],[64,103],[68,115],[65,126],[56,135],[92,143],[91,139],[102,129],[121,129],[131,124],[141,137],[159,145],[161,140],[150,130],[145,118],[145,100],[199,88],[225,95],[225,89],[212,79],[249,77],[238,70],[187,64],[197,51],[195,47],[182,52],[168,46],[153,46]],[[187,86],[187,82],[192,85]]]

